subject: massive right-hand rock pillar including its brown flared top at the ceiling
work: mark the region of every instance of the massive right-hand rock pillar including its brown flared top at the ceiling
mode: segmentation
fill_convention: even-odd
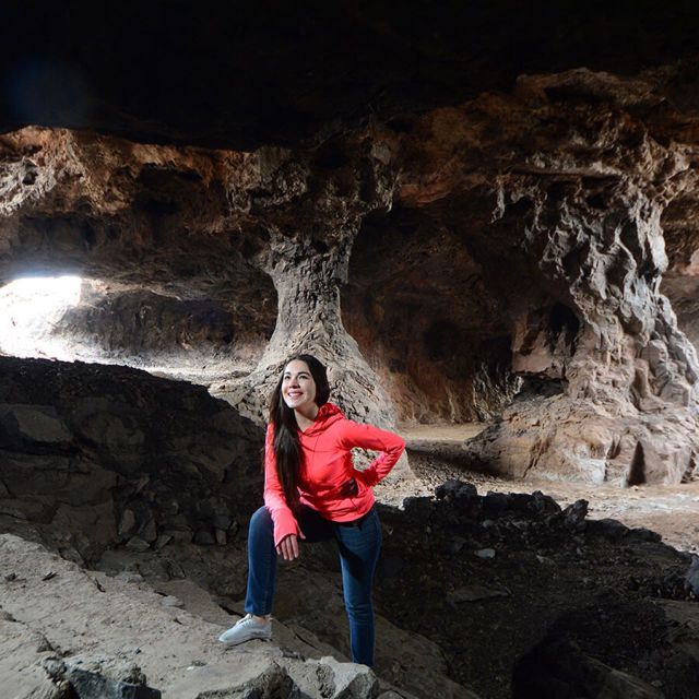
[[[588,71],[522,79],[511,98],[418,127],[429,138],[413,157],[429,165],[404,177],[399,200],[462,232],[507,309],[512,371],[559,391],[522,394],[473,441],[474,459],[500,473],[694,474],[696,353],[659,292],[661,213],[694,175],[685,149],[633,116],[651,85]],[[494,167],[475,170],[484,153]],[[435,177],[437,157],[449,167]]]

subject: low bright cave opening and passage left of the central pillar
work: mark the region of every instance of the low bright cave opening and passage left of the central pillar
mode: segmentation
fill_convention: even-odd
[[[0,354],[130,366],[204,386],[252,369],[273,330],[269,288],[257,299],[235,287],[182,297],[143,282],[9,282],[0,289]]]

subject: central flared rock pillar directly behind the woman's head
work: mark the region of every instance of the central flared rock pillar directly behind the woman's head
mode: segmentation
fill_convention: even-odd
[[[333,394],[348,416],[388,427],[395,414],[388,395],[342,322],[340,286],[362,217],[386,209],[393,178],[390,150],[367,135],[316,154],[309,164],[310,197],[281,209],[260,254],[276,288],[274,333],[256,370],[227,392],[253,419],[262,422],[284,360],[306,352],[329,367]],[[311,169],[312,168],[312,169]]]

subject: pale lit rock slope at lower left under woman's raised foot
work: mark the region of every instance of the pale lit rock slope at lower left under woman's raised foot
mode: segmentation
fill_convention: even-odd
[[[283,647],[256,641],[227,649],[216,640],[225,628],[221,624],[166,607],[147,585],[85,571],[38,544],[2,534],[0,560],[11,571],[0,581],[0,677],[13,697],[68,699],[76,692],[157,699],[162,692],[181,699],[291,699],[305,692],[371,699],[384,694],[363,665],[305,660],[301,652],[312,649],[281,628]]]

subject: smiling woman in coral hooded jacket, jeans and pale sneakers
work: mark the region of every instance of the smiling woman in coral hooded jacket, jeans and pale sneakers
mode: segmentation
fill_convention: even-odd
[[[264,450],[264,507],[250,520],[247,616],[220,641],[271,638],[276,556],[294,560],[300,542],[337,542],[352,660],[374,664],[371,585],[381,548],[381,524],[371,486],[400,459],[405,442],[359,425],[328,402],[325,367],[315,357],[292,357],[270,402]],[[365,471],[354,447],[382,452]]]

